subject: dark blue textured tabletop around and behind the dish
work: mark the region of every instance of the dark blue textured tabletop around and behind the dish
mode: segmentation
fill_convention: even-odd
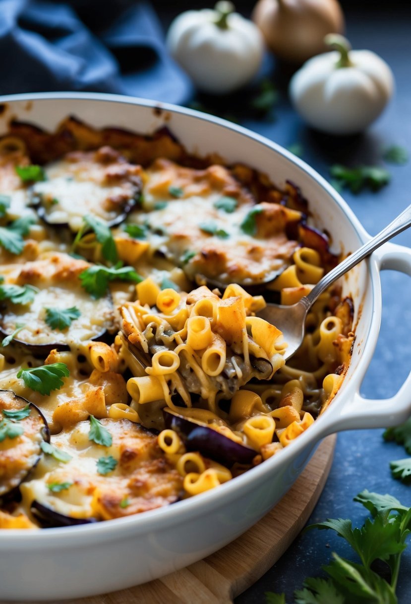
[[[284,68],[277,67],[272,74],[280,89],[274,121],[247,119],[241,109],[241,94],[228,101],[224,98],[217,102],[209,98],[201,100],[212,102],[222,113],[234,112],[240,116],[240,123],[283,146],[301,143],[303,159],[325,178],[329,178],[329,166],[335,162],[353,166],[385,165],[392,174],[392,181],[378,193],[363,191],[353,195],[343,192],[365,228],[376,234],[411,202],[411,163],[397,166],[384,164],[381,159],[381,150],[391,144],[400,144],[411,152],[411,8],[408,2],[394,2],[384,7],[374,2],[343,1],[342,4],[347,16],[347,36],[353,47],[369,48],[380,54],[395,76],[394,99],[364,135],[344,140],[307,129],[287,100],[288,77]],[[237,5],[243,12],[250,6],[245,2],[237,2]],[[180,8],[187,6],[180,3]],[[178,12],[175,6],[164,9],[157,5],[157,10],[164,24],[169,22],[171,13]],[[270,65],[266,66],[267,70],[269,68]],[[411,231],[402,233],[394,241],[411,246]],[[411,367],[411,279],[385,272],[381,280],[383,318],[380,338],[361,388],[363,396],[369,398],[395,394]],[[389,461],[406,457],[404,449],[394,443],[384,443],[381,434],[381,430],[361,430],[339,435],[330,477],[309,524],[339,517],[353,519],[354,525],[362,524],[366,510],[354,503],[353,497],[363,489],[392,493],[404,504],[411,505],[411,486],[394,480],[389,469]],[[236,604],[262,603],[266,591],[285,592],[287,602],[293,602],[293,590],[301,587],[305,577],[321,574],[321,566],[327,564],[331,551],[351,556],[350,548],[332,532],[313,530],[300,535],[262,579],[237,597]],[[411,547],[403,555],[398,600],[400,604],[411,603]]]

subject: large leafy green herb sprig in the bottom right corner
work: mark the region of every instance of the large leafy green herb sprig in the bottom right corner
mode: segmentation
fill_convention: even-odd
[[[411,528],[411,507],[403,506],[392,495],[380,495],[363,490],[354,498],[371,512],[360,528],[353,528],[349,519],[328,519],[310,525],[306,530],[334,530],[359,557],[351,562],[337,553],[324,567],[327,579],[309,578],[303,589],[295,591],[298,604],[345,604],[369,602],[398,604],[395,596],[401,554]],[[391,571],[386,580],[375,571],[375,561],[383,561]],[[269,604],[286,604],[284,594],[266,594]]]

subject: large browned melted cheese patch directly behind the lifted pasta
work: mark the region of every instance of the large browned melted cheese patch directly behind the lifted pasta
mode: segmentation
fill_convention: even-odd
[[[145,173],[143,196],[145,213],[135,211],[130,220],[146,228],[150,262],[156,264],[163,254],[192,280],[204,275],[222,283],[267,281],[289,265],[298,246],[288,239],[286,225],[301,213],[278,204],[256,205],[220,165],[193,170],[157,160]],[[236,201],[232,212],[218,207],[224,196]],[[254,228],[243,226],[250,213]]]

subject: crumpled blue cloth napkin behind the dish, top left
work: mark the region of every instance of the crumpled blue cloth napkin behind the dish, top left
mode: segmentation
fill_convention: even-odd
[[[98,91],[183,104],[192,85],[149,4],[0,0],[0,94]]]

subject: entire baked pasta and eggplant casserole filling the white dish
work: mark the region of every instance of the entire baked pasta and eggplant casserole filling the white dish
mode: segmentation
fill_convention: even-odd
[[[281,175],[278,175],[281,178]],[[292,182],[172,134],[0,140],[0,528],[97,522],[213,489],[292,446],[350,361],[333,286],[287,364],[267,301],[339,258]]]

